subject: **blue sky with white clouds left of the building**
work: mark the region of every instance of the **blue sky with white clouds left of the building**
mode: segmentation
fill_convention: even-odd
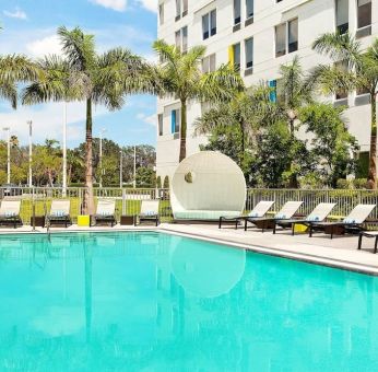
[[[151,45],[156,38],[157,0],[0,0],[0,54],[22,53],[34,58],[59,54],[56,30],[80,26],[94,34],[98,51],[122,46],[149,60],[155,58]],[[155,144],[155,106],[152,96],[130,96],[119,112],[96,107],[94,136],[102,128],[105,137],[120,144]],[[0,100],[0,127],[11,127],[22,143],[27,140],[26,120],[33,120],[34,141],[61,140],[62,104],[47,103],[10,108]],[[68,105],[69,146],[84,140],[85,107]],[[0,132],[3,138],[3,131]]]

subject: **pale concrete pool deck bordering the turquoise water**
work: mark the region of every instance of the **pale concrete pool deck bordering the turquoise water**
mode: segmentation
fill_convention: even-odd
[[[31,233],[31,226],[19,229],[0,229],[1,234]],[[288,230],[277,230],[275,235],[271,231],[262,233],[260,230],[250,229],[245,232],[243,229],[235,230],[225,226],[222,230],[213,224],[170,224],[163,223],[155,228],[152,225],[120,226],[114,228],[95,226],[79,228],[71,225],[68,229],[52,228],[51,233],[57,232],[111,232],[111,231],[162,231],[166,233],[179,234],[194,239],[208,240],[241,247],[262,254],[287,257],[292,259],[305,260],[346,270],[365,272],[378,276],[378,254],[374,252],[374,239],[363,240],[363,249],[357,251],[357,236],[335,236],[333,240],[329,235],[315,234],[308,237],[307,234],[291,235]],[[46,229],[36,228],[36,233],[46,233]]]

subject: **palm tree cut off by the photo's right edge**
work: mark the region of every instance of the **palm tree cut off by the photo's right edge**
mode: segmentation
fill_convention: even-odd
[[[378,86],[378,38],[375,38],[367,50],[351,34],[329,33],[318,37],[312,48],[329,56],[334,62],[344,61],[347,69],[336,66],[319,65],[312,72],[323,93],[332,94],[340,91],[361,90],[370,98],[370,154],[369,154],[369,188],[377,188],[377,86]]]

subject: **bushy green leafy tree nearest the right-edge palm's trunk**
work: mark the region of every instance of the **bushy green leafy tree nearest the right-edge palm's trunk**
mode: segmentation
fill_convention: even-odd
[[[351,156],[358,147],[356,139],[347,131],[342,119],[343,107],[331,104],[312,104],[299,112],[299,119],[306,131],[315,135],[310,142],[318,172],[326,183],[336,187],[339,178],[354,171]]]

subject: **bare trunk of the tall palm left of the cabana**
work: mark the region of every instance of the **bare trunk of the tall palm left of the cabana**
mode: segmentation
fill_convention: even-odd
[[[92,138],[92,100],[86,100],[86,132],[85,132],[85,191],[83,213],[94,213],[93,200],[93,138]]]

